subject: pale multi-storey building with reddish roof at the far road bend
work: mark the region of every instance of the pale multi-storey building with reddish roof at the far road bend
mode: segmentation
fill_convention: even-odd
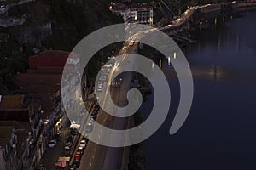
[[[148,3],[112,3],[109,7],[113,14],[122,16],[124,22],[153,25],[153,7]]]

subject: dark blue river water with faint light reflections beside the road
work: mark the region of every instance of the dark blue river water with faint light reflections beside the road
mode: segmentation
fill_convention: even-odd
[[[256,12],[202,29],[197,40],[183,50],[195,88],[189,117],[169,134],[179,86],[166,74],[172,104],[166,122],[145,141],[147,170],[256,169]],[[153,102],[149,96],[143,104],[144,116]]]

